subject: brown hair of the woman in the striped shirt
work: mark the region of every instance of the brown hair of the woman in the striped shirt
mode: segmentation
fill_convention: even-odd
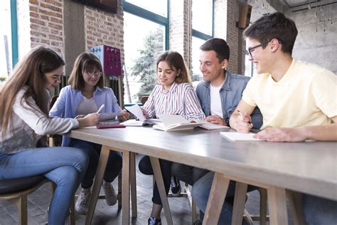
[[[156,71],[158,70],[158,64],[162,61],[165,61],[171,69],[174,67],[180,70],[180,74],[174,79],[176,83],[191,83],[190,75],[181,54],[176,51],[166,51],[162,53],[157,59]]]

